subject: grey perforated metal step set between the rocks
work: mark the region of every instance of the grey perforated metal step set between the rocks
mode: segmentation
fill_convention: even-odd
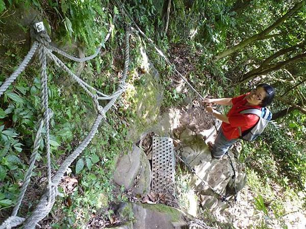
[[[152,142],[152,185],[151,191],[175,193],[175,159],[173,141],[169,137],[153,137]]]

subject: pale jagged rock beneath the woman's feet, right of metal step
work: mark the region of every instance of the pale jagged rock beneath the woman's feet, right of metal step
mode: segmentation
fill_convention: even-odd
[[[246,184],[246,176],[233,153],[228,152],[228,156],[224,155],[221,159],[212,158],[202,137],[205,136],[187,128],[180,136],[183,146],[180,153],[182,159],[195,171],[190,179],[190,187],[198,193],[201,206],[218,213],[227,207],[220,195],[233,197],[235,189],[238,192]]]

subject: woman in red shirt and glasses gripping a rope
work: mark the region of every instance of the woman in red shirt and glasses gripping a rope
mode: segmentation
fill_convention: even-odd
[[[222,115],[211,106],[206,107],[206,111],[212,113],[217,119],[222,121],[221,128],[212,148],[212,156],[220,159],[240,136],[238,127],[241,132],[253,127],[259,120],[254,114],[242,114],[240,111],[256,108],[261,109],[269,105],[275,95],[274,88],[266,83],[259,84],[251,92],[235,97],[222,99],[205,99],[205,103],[216,103],[220,105],[233,106],[227,115]]]

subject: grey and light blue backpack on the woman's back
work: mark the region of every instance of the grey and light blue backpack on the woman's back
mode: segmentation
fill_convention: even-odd
[[[260,109],[246,109],[240,111],[240,113],[252,113],[259,117],[259,121],[250,129],[241,133],[241,127],[238,127],[240,138],[246,141],[252,141],[256,139],[266,128],[270,120],[272,119],[272,113],[267,107]]]

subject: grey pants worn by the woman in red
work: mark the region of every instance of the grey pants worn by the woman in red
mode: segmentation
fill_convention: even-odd
[[[217,159],[221,158],[227,152],[228,148],[230,148],[230,146],[232,146],[237,140],[238,138],[227,140],[222,133],[222,128],[220,127],[215,140],[215,145],[212,149],[212,156]]]

